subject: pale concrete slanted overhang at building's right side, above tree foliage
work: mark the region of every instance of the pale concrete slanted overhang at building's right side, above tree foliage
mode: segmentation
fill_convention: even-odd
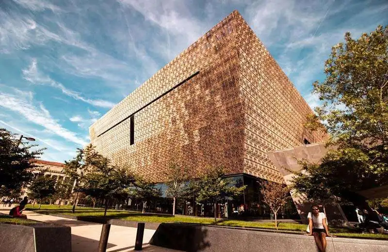
[[[291,174],[287,169],[293,172],[301,170],[298,160],[307,159],[312,163],[319,164],[321,158],[331,149],[331,147],[326,148],[325,144],[326,142],[317,142],[278,151],[270,151],[267,152],[267,156],[277,169],[279,169],[280,173],[286,176]]]

